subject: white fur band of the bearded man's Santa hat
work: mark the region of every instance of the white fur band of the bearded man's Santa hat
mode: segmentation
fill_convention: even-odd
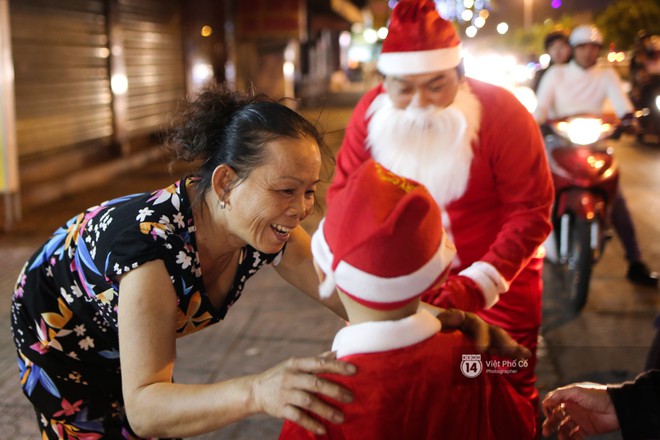
[[[413,52],[385,52],[378,57],[383,75],[417,75],[451,69],[461,62],[461,45]]]

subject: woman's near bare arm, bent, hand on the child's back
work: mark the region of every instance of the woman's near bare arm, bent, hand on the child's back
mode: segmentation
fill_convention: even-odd
[[[332,420],[341,414],[314,396],[339,401],[348,391],[315,374],[352,374],[327,357],[290,359],[256,375],[212,384],[174,384],[177,302],[162,261],[128,272],[119,293],[119,346],[127,417],[141,437],[190,437],[265,412],[320,432],[302,409]]]

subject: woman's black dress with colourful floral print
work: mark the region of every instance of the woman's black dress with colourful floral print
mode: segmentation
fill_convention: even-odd
[[[280,255],[246,246],[225,304],[215,309],[202,282],[186,191],[194,184],[187,178],[92,207],[25,264],[12,297],[12,332],[23,392],[44,438],[137,438],[121,393],[120,275],[162,260],[176,291],[182,336],[222,320],[245,281]]]

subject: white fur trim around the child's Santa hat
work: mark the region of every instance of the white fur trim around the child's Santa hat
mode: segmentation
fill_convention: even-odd
[[[372,275],[358,269],[345,261],[340,261],[337,268],[332,271],[334,256],[323,235],[323,223],[312,236],[312,254],[317,264],[325,272],[326,277],[332,276],[334,283],[351,296],[375,303],[391,303],[414,298],[424,292],[433,283],[442,271],[451,264],[456,248],[443,235],[438,250],[421,268],[415,272],[392,278]],[[330,289],[323,288],[321,295],[328,295]],[[330,291],[332,294],[332,291]],[[325,298],[325,296],[321,296]]]

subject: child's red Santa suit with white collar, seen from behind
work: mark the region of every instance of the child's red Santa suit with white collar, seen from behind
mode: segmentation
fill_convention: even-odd
[[[321,420],[318,436],[286,421],[280,439],[530,439],[534,412],[501,375],[461,374],[462,354],[474,354],[460,332],[440,333],[440,323],[420,311],[399,321],[350,325],[333,350],[357,367],[353,376],[325,375],[354,394],[328,400],[344,423]]]

